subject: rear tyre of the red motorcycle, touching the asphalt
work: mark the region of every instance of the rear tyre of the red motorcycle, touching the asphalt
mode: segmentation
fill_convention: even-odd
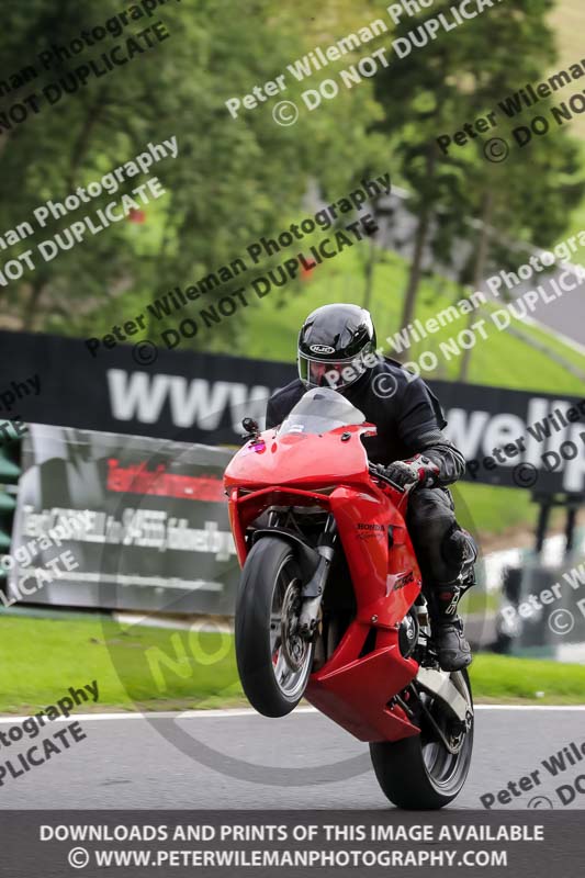
[[[468,672],[455,671],[453,677],[459,677],[459,686],[465,686],[471,698]],[[437,719],[432,703],[427,706]],[[373,768],[384,795],[398,808],[421,811],[443,808],[461,792],[472,751],[473,720],[457,754],[425,732],[402,741],[370,744]]]

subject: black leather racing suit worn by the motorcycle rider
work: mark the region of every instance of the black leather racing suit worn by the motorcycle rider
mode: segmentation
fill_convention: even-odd
[[[268,402],[267,428],[281,424],[305,392],[299,379],[277,391]],[[410,494],[406,519],[425,594],[430,597],[454,583],[463,567],[463,553],[449,539],[459,526],[447,485],[461,477],[465,459],[441,432],[447,421],[437,397],[394,360],[384,358],[344,395],[378,428],[375,437],[363,439],[373,463],[387,465],[424,451],[439,466],[436,487]]]

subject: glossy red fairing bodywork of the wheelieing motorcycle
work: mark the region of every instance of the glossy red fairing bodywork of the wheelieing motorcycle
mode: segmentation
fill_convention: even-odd
[[[269,506],[319,505],[334,515],[357,614],[305,696],[360,740],[395,741],[419,733],[398,706],[387,705],[418,671],[401,654],[398,626],[421,579],[404,521],[407,494],[382,486],[368,470],[361,436],[374,430],[362,424],[282,438],[266,430],[233,458],[224,482],[240,564],[246,529]],[[374,649],[360,658],[372,628]]]

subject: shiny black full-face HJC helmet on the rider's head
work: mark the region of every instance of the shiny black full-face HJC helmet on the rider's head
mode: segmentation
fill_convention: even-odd
[[[375,363],[374,351],[370,312],[359,305],[323,305],[299,333],[299,376],[307,387],[341,391]]]

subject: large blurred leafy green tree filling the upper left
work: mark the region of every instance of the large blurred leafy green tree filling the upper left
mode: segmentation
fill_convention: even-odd
[[[307,36],[299,18],[303,7],[308,12],[306,0],[294,10],[256,0],[246,15],[236,15],[227,0],[204,0],[196,13],[168,3],[159,14],[170,38],[108,76],[90,78],[77,93],[2,135],[2,229],[14,228],[43,201],[60,201],[76,187],[99,180],[149,142],[176,136],[179,145],[178,160],[153,171],[167,194],[145,209],[145,223],[117,223],[53,261],[40,261],[32,274],[0,289],[4,313],[25,327],[100,335],[121,314],[144,311],[155,296],[228,264],[260,235],[278,234],[301,210],[310,178],[317,177],[324,193],[335,198],[349,189],[375,143],[367,136],[376,112],[368,83],[359,95],[340,95],[330,115],[304,113],[294,128],[274,124],[273,102],[238,120],[225,106],[228,98],[274,79],[314,48],[316,37]],[[33,0],[26,14],[7,10],[9,69],[22,67],[30,46],[67,45],[119,11],[115,0],[102,3],[91,20],[81,7],[60,9],[53,0]],[[124,44],[144,25],[140,21],[104,41],[82,60]],[[48,71],[38,89],[72,67]],[[299,100],[303,88],[299,83],[286,97]],[[348,108],[352,123],[339,136]],[[127,183],[121,193],[131,189]],[[91,210],[111,200],[97,199]],[[49,222],[43,236],[52,238],[82,213]],[[29,240],[15,245],[10,257],[29,246]],[[205,302],[213,304],[214,294]],[[195,338],[185,346],[221,339],[237,347],[236,324],[216,327],[211,342]]]

